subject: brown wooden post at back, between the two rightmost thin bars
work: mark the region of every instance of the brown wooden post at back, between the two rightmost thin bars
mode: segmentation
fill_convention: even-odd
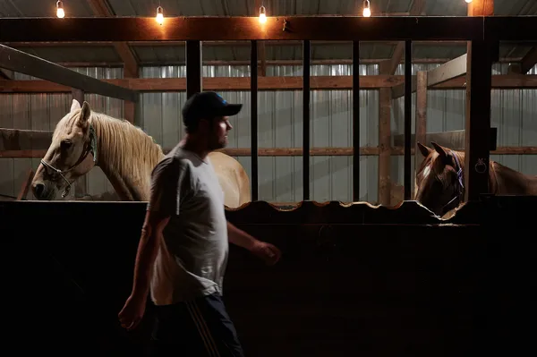
[[[389,61],[381,63],[379,74],[386,74],[389,66]],[[379,89],[379,204],[385,206],[390,204],[391,191],[391,106],[391,89]]]

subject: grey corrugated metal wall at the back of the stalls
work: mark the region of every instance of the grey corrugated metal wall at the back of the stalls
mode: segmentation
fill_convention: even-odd
[[[437,65],[414,64],[413,72],[430,70]],[[121,69],[77,69],[98,79],[121,78]],[[506,73],[505,65],[494,71]],[[403,74],[401,65],[397,74]],[[533,73],[537,72],[533,69]],[[206,77],[249,76],[248,66],[204,66]],[[350,75],[350,65],[314,65],[311,75]],[[361,65],[361,75],[378,74],[378,65]],[[184,77],[182,66],[144,67],[142,77]],[[268,68],[267,75],[302,75],[302,67]],[[17,75],[16,79],[29,79]],[[377,146],[379,142],[379,92],[361,90],[361,145]],[[492,125],[499,128],[499,146],[537,146],[536,90],[493,90]],[[243,111],[231,119],[234,130],[229,137],[230,148],[250,148],[250,92],[222,92],[230,102],[243,103]],[[302,147],[301,90],[260,91],[260,148]],[[67,113],[72,97],[68,94],[0,95],[0,127],[54,130],[55,123]],[[96,111],[123,116],[123,101],[87,95]],[[172,148],[183,136],[181,108],[185,93],[144,93],[137,106],[136,124],[164,148]],[[413,95],[413,123],[415,94]],[[352,146],[352,91],[316,90],[311,92],[311,146]],[[403,133],[404,98],[393,101],[392,133]],[[428,132],[465,128],[465,91],[435,90],[428,94]],[[250,157],[235,157],[251,174]],[[259,157],[260,200],[289,202],[303,200],[302,157]],[[535,156],[493,156],[507,166],[526,174],[537,174]],[[392,157],[392,181],[403,183],[402,156]],[[28,169],[38,166],[38,158],[0,158],[0,194],[16,196]],[[376,202],[378,198],[378,158],[361,157],[361,200]],[[413,162],[413,160],[412,160]],[[98,169],[90,172],[87,182],[90,194],[113,191],[107,178]],[[33,200],[31,193],[29,199]],[[352,157],[311,157],[311,200],[352,200]]]

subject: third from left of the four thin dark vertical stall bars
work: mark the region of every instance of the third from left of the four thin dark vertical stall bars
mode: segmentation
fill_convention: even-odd
[[[360,41],[353,41],[353,200],[360,200]]]

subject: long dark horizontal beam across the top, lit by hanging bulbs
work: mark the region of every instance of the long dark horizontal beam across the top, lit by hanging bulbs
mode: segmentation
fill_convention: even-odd
[[[282,30],[283,21],[288,30]],[[482,18],[427,16],[257,16],[115,18],[2,18],[0,42],[6,41],[177,41],[177,40],[471,40],[483,38]]]

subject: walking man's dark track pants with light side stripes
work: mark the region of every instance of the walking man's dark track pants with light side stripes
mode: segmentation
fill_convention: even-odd
[[[151,355],[243,357],[234,324],[219,294],[156,306]]]

